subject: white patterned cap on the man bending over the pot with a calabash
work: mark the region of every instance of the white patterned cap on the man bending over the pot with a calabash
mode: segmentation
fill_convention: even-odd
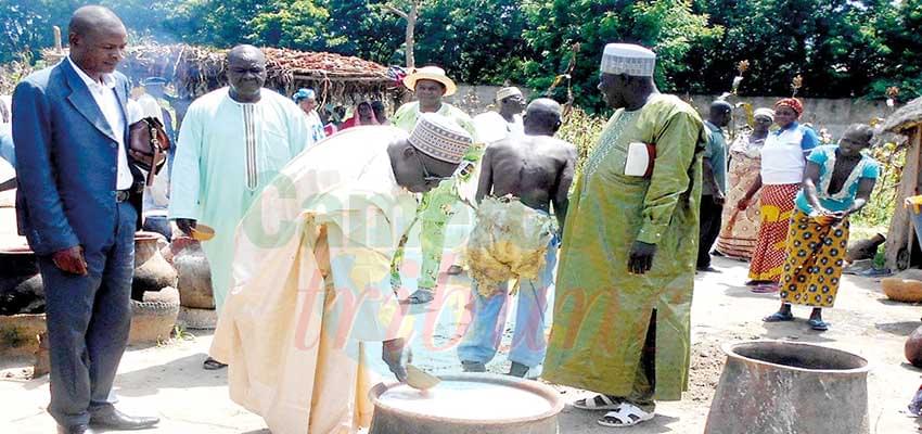
[[[461,163],[473,139],[451,119],[435,113],[423,113],[410,132],[410,144],[435,159]]]

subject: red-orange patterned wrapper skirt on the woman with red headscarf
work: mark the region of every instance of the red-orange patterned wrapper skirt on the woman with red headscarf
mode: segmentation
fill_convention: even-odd
[[[750,279],[778,282],[786,257],[787,224],[799,183],[761,188],[758,242],[750,263]]]

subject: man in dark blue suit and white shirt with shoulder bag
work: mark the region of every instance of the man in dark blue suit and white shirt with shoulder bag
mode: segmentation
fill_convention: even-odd
[[[156,418],[113,407],[112,383],[128,340],[135,231],[143,176],[129,152],[127,78],[115,72],[127,31],[112,11],[78,9],[71,54],[13,93],[20,233],[39,257],[59,433],[126,430]]]

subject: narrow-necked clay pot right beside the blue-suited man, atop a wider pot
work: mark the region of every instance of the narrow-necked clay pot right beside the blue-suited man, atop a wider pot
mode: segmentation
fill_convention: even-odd
[[[176,286],[176,269],[161,255],[158,243],[166,242],[159,233],[135,233],[135,278],[131,299],[141,301],[144,292]]]

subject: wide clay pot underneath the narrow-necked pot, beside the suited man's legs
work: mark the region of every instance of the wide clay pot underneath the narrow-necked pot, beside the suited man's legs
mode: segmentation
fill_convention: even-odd
[[[156,344],[170,337],[179,316],[179,294],[172,288],[144,294],[144,301],[131,301],[129,344]]]

